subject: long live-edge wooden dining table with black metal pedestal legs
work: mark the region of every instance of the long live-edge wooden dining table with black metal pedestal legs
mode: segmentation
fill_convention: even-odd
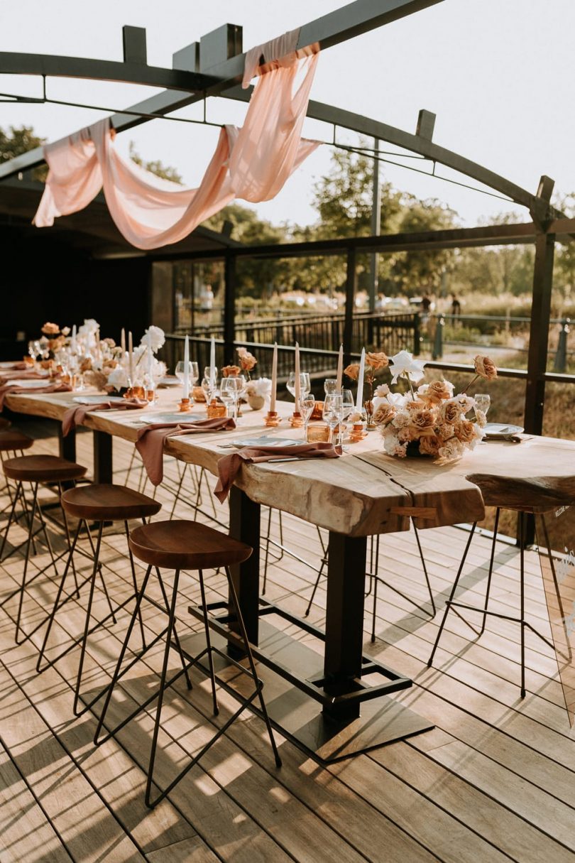
[[[12,394],[10,410],[61,420],[73,394]],[[279,404],[287,416],[293,406]],[[174,409],[174,396],[162,394],[146,413]],[[137,412],[139,413],[139,412]],[[95,477],[111,482],[113,436],[135,441],[136,412],[89,414],[95,432]],[[195,413],[203,413],[201,406]],[[287,423],[274,433],[301,436]],[[193,434],[166,442],[166,453],[216,474],[228,440],[269,434],[261,412],[246,411],[227,435]],[[66,438],[68,441],[69,438]],[[66,442],[65,442],[66,443]],[[68,444],[68,455],[72,454]],[[245,465],[230,494],[230,533],[253,547],[253,556],[234,572],[247,631],[260,661],[271,669],[266,695],[272,721],[314,757],[330,761],[392,740],[419,734],[430,724],[389,695],[411,685],[401,673],[363,655],[366,539],[370,535],[480,520],[484,505],[471,473],[503,476],[562,476],[575,442],[528,438],[521,444],[490,442],[459,462],[439,467],[427,458],[397,459],[384,454],[378,432],[352,444],[340,459]],[[329,532],[325,633],[259,597],[260,506],[292,513]],[[297,623],[324,641],[321,654],[280,636],[272,616]],[[378,683],[367,683],[367,676]]]

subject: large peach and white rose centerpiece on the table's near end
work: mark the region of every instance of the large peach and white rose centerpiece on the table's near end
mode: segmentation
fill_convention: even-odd
[[[488,356],[475,357],[475,377],[459,394],[453,393],[450,381],[424,383],[415,390],[425,363],[406,350],[392,356],[391,363],[391,384],[406,381],[409,392],[392,393],[387,384],[375,391],[373,422],[384,439],[385,452],[400,458],[432,456],[437,463],[449,463],[484,438],[485,415],[467,390],[479,377],[485,381],[497,378],[497,368]]]

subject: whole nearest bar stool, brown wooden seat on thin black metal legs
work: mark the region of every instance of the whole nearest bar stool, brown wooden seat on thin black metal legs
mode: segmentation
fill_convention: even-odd
[[[257,697],[259,699],[259,709],[261,715],[266,722],[267,733],[269,734],[270,742],[272,744],[272,751],[275,757],[276,765],[278,765],[278,767],[281,766],[281,759],[279,758],[278,748],[273,737],[272,726],[267,715],[266,702],[264,702],[264,697],[262,695],[262,688],[264,684],[259,679],[255,669],[252,649],[247,639],[246,627],[241,616],[238,597],[229,570],[230,566],[234,564],[241,564],[244,560],[247,560],[247,558],[250,557],[250,555],[252,554],[253,550],[249,547],[249,545],[244,545],[243,543],[238,542],[231,537],[228,537],[225,533],[216,531],[211,527],[198,524],[195,521],[179,520],[156,521],[153,524],[136,527],[135,530],[130,533],[129,544],[134,553],[134,557],[137,557],[139,560],[147,564],[147,571],[146,576],[144,576],[144,581],[141,585],[141,590],[138,595],[136,606],[134,608],[134,613],[132,614],[132,619],[130,620],[128,626],[126,639],[124,640],[124,643],[122,645],[122,650],[120,652],[120,656],[116,665],[116,671],[114,672],[112,681],[109,684],[109,690],[103,705],[102,715],[100,716],[97,724],[96,734],[94,738],[95,743],[97,743],[98,745],[100,743],[103,743],[104,740],[109,740],[109,737],[111,737],[113,734],[116,734],[129,721],[134,719],[134,716],[138,715],[141,710],[147,708],[148,704],[151,704],[154,699],[158,699],[158,706],[156,709],[156,716],[153,726],[152,746],[150,751],[150,760],[148,765],[146,784],[146,805],[149,807],[153,807],[157,805],[160,800],[163,800],[164,797],[166,797],[166,795],[170,793],[170,791],[172,791],[172,788],[179,782],[181,778],[184,777],[184,775],[188,771],[191,770],[194,765],[197,764],[199,759],[201,759],[203,755],[208,752],[209,748],[216,743],[216,740],[219,740],[222,734],[225,734],[232,722],[234,722],[245,709],[251,708],[252,702]],[[153,569],[155,569],[156,573],[159,576],[159,568],[174,570],[172,597],[169,603],[166,602],[165,609],[168,615],[168,622],[167,627],[164,630],[164,633],[166,633],[166,648],[164,651],[164,660],[159,679],[159,690],[157,692],[154,692],[152,696],[147,698],[147,700],[143,702],[139,707],[137,707],[130,715],[128,715],[128,717],[122,720],[122,722],[120,722],[120,724],[117,725],[113,731],[109,731],[105,737],[103,737],[101,740],[98,740],[100,732],[103,728],[112,692],[116,687],[116,683],[118,682],[120,677],[122,677],[122,675],[126,671],[128,671],[128,668],[130,668],[131,665],[134,665],[134,663],[130,663],[130,665],[128,665],[122,671],[122,662],[124,659],[124,655],[128,649],[128,642],[134,628],[136,617],[140,610],[141,602],[144,598],[148,599],[148,597],[145,597],[145,594],[150,573]],[[222,652],[217,647],[213,646],[211,643],[209,635],[209,611],[206,604],[206,595],[203,584],[203,570],[216,570],[220,568],[223,568],[226,572],[226,575],[228,576],[229,597],[232,605],[231,620],[233,622],[233,625],[237,626],[239,630],[239,633],[234,636],[234,641],[237,642],[237,644],[241,646],[242,651],[246,653],[247,663],[249,666],[248,668],[245,668],[239,662],[236,662],[234,658],[228,656],[228,654]],[[170,677],[170,679],[167,679],[168,658],[170,654],[170,649],[175,647],[178,652],[181,652],[179,642],[175,641],[175,639],[175,643],[172,642],[172,633],[174,633],[174,625],[176,622],[176,603],[178,600],[178,583],[181,570],[197,570],[198,572],[200,591],[202,596],[201,606],[198,609],[198,616],[203,620],[206,637],[206,647],[203,649],[202,652],[198,653],[196,657],[191,657],[189,654],[184,652],[184,656],[188,660],[187,664],[184,665],[184,670],[176,672],[172,677]],[[191,668],[193,665],[197,665],[198,670],[202,671],[210,678],[214,714],[217,715],[218,706],[216,697],[216,672],[214,671],[213,660],[214,653],[219,654],[220,656],[225,658],[228,665],[235,665],[236,668],[241,671],[241,673],[246,674],[248,677],[252,678],[254,683],[253,693],[252,695],[247,696],[247,698],[243,698],[235,690],[227,688],[228,692],[232,693],[234,697],[236,697],[241,702],[240,708],[236,710],[235,713],[228,719],[228,721],[226,721],[222,725],[222,728],[218,729],[216,734],[214,734],[213,737],[208,741],[208,743],[203,746],[201,751],[194,758],[192,758],[180,772],[178,772],[176,778],[172,780],[172,782],[167,786],[167,788],[164,791],[160,791],[159,796],[152,800],[151,792],[153,783],[153,765],[156,757],[156,746],[158,744],[159,725],[164,692],[169,686],[172,686],[172,683],[178,680],[178,678],[181,677],[183,674],[187,675],[187,670],[189,668]],[[143,652],[141,655],[143,655]],[[209,671],[204,671],[203,667],[201,665],[198,665],[200,660],[204,656],[207,656],[208,658]],[[189,678],[188,688],[191,689],[191,683]]]

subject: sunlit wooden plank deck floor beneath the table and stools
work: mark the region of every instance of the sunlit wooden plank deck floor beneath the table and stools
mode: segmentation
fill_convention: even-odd
[[[27,424],[39,440],[34,451],[54,452],[55,438],[46,423]],[[116,481],[123,482],[131,446],[115,441]],[[78,435],[78,460],[91,464],[91,434]],[[166,476],[177,476],[176,463]],[[136,485],[138,471],[130,475]],[[209,479],[213,484],[213,479]],[[160,490],[169,515],[172,496]],[[211,513],[203,487],[202,507]],[[225,524],[226,511],[217,512]],[[178,506],[181,516],[190,514]],[[5,518],[5,516],[3,516]],[[320,545],[316,529],[284,517],[284,542],[316,565]],[[272,535],[277,536],[277,513]],[[16,533],[14,534],[16,538]],[[422,532],[422,545],[438,608],[453,583],[466,533],[456,528]],[[55,539],[56,545],[59,540]],[[468,598],[481,597],[488,540],[474,540],[465,576]],[[59,543],[61,549],[61,542]],[[39,552],[41,549],[38,550]],[[105,538],[106,581],[113,595],[129,595],[125,540]],[[272,556],[277,557],[277,552]],[[513,613],[518,600],[518,558],[511,545],[497,546],[493,608]],[[39,553],[34,565],[47,562]],[[84,570],[89,563],[86,561]],[[2,566],[3,596],[16,586],[21,557]],[[527,555],[528,614],[548,632],[539,562]],[[284,760],[277,770],[263,723],[245,714],[170,795],[150,811],[143,803],[145,768],[152,720],[143,714],[118,740],[95,748],[96,722],[90,713],[72,718],[71,681],[78,649],[41,675],[35,671],[40,629],[14,645],[16,610],[9,600],[0,611],[0,860],[127,861],[230,863],[309,861],[418,861],[488,863],[497,860],[572,861],[575,855],[575,746],[563,706],[553,653],[528,634],[528,696],[519,698],[518,628],[491,619],[479,641],[451,615],[435,659],[425,665],[438,617],[426,613],[426,589],[416,543],[408,533],[386,536],[381,545],[380,575],[422,609],[382,587],[378,598],[378,638],[371,645],[366,608],[366,652],[414,678],[414,686],[396,696],[433,721],[433,731],[372,753],[331,765],[307,759],[287,740],[279,740]],[[312,566],[284,554],[268,571],[268,595],[297,614],[309,598]],[[210,597],[224,594],[219,574],[207,578]],[[41,576],[28,589],[24,627],[40,623],[54,595]],[[197,583],[182,582],[181,633],[187,624],[187,600],[197,598]],[[68,603],[53,629],[49,655],[56,656],[83,625],[86,589]],[[325,583],[320,583],[310,614],[322,625]],[[105,614],[103,595],[97,612]],[[513,610],[511,610],[513,609]],[[115,664],[128,613],[116,626],[91,639],[84,689],[96,691]],[[158,631],[159,613],[145,609],[149,631]],[[197,628],[197,621],[191,620]],[[292,634],[293,627],[287,626]],[[314,639],[302,633],[302,641]],[[129,709],[134,698],[152,690],[161,647],[136,665],[122,683]],[[176,667],[176,659],[173,662]],[[213,731],[209,690],[194,678],[191,693],[176,685],[166,695],[160,735],[159,778],[184,764]],[[225,721],[234,700],[222,694]]]

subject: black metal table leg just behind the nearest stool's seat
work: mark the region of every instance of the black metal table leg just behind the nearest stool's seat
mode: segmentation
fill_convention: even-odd
[[[232,486],[229,493],[229,535],[253,548],[247,561],[231,567],[247,638],[253,645],[258,644],[259,632],[259,508],[259,503],[251,501],[240,488]],[[233,613],[231,600],[229,612]],[[232,653],[237,650],[231,644],[230,647]]]

